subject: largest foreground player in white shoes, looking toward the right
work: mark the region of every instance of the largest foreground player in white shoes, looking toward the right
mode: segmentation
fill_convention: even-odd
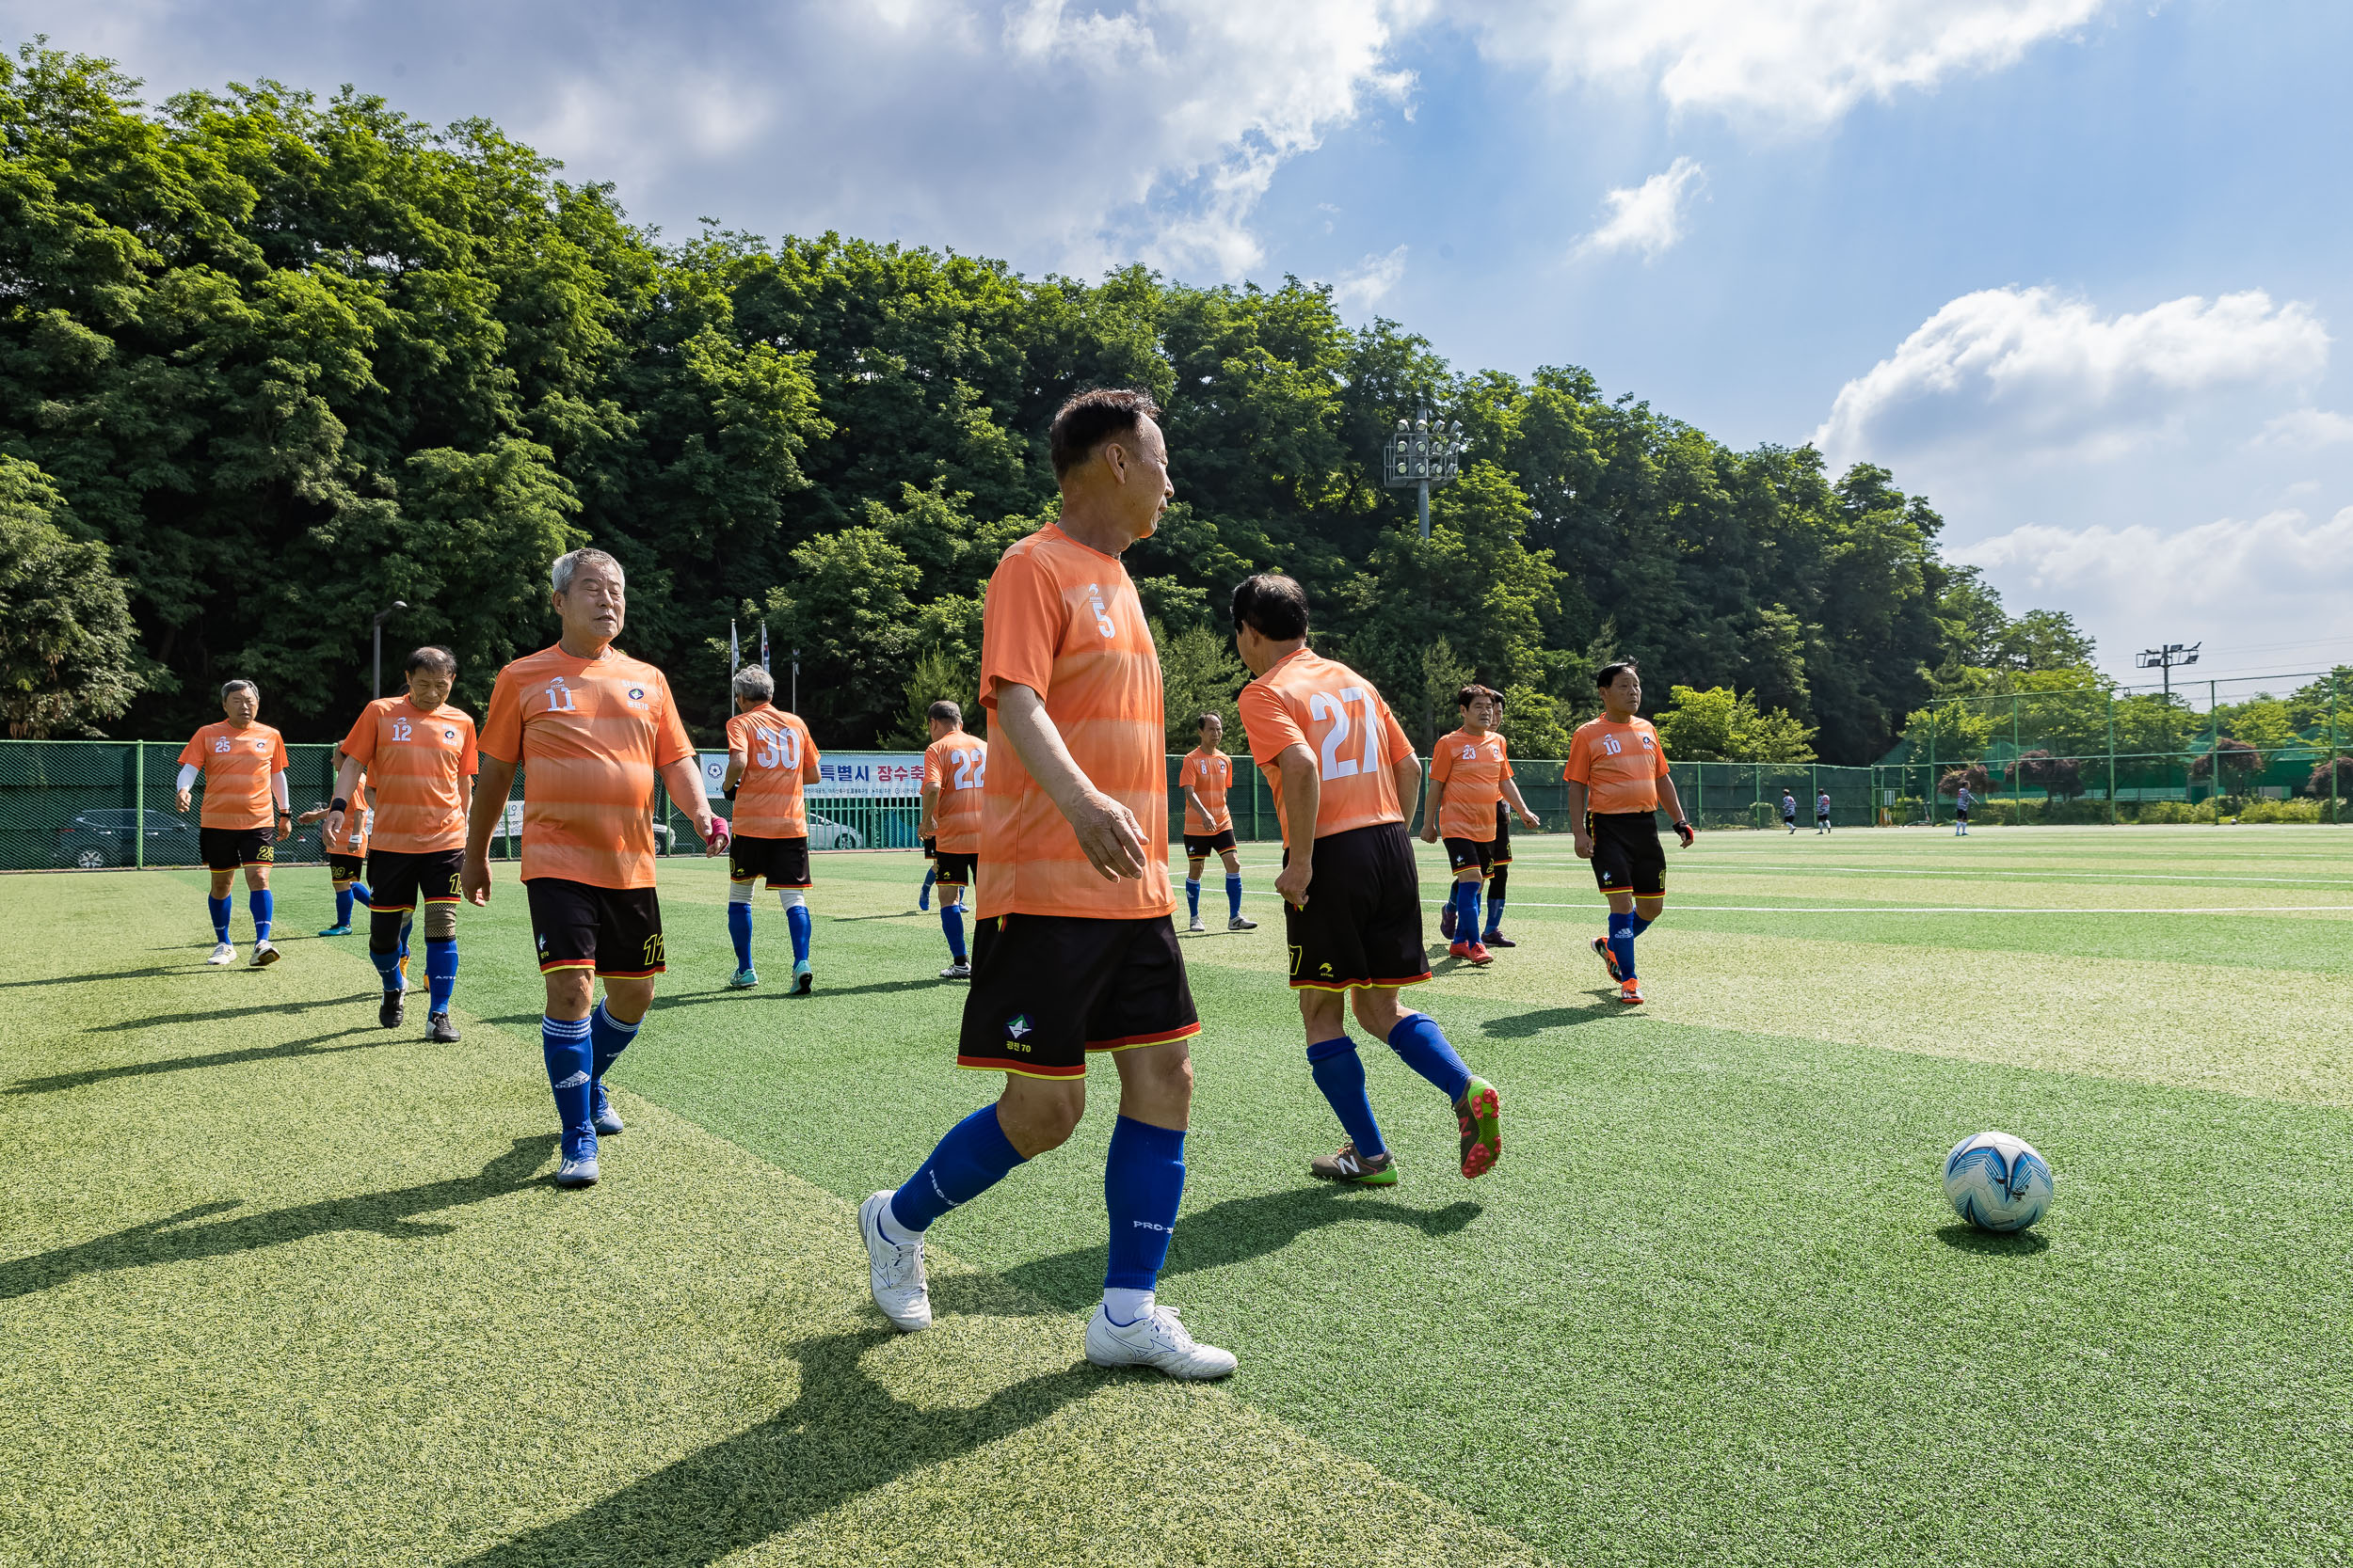
[[[1184,1197],[1186,1041],[1200,1032],[1169,924],[1160,651],[1120,564],[1174,494],[1158,414],[1129,390],[1061,404],[1047,435],[1061,520],[1009,545],[988,578],[981,929],[955,1065],[1002,1072],[1005,1093],[955,1124],[904,1187],[868,1197],[859,1229],[875,1305],[896,1328],[925,1328],[922,1232],[1068,1140],[1087,1056],[1111,1053],[1111,1260],[1087,1359],[1224,1378],[1233,1356],[1198,1345],[1153,1295]]]

